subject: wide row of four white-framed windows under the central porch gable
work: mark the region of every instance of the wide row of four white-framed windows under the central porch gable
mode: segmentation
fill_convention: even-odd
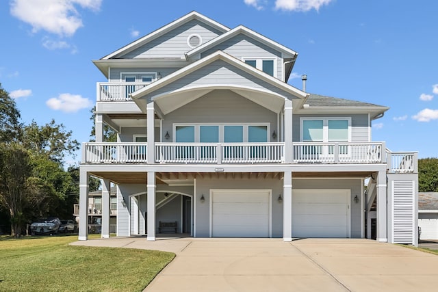
[[[268,142],[269,124],[174,124],[174,142]]]

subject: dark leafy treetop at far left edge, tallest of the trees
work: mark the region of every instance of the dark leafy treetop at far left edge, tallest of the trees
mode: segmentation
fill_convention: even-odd
[[[0,83],[0,141],[5,143],[21,140],[20,111],[15,101],[9,96]]]

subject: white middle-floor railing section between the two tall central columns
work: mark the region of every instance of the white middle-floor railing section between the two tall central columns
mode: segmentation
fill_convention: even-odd
[[[283,143],[156,143],[156,163],[281,163]]]

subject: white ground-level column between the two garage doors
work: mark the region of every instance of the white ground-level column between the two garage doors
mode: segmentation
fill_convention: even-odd
[[[283,178],[283,240],[292,241],[292,172]]]

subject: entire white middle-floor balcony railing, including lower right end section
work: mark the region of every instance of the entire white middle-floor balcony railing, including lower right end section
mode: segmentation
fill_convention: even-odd
[[[84,143],[82,163],[148,163],[146,143]],[[417,172],[416,152],[391,152],[383,142],[310,143],[292,145],[293,163],[387,163],[391,173]],[[153,163],[263,164],[285,163],[279,143],[155,143]]]

